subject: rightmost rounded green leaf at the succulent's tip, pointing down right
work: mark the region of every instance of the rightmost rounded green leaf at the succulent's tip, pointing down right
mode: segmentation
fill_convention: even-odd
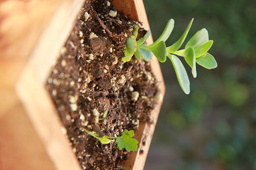
[[[206,52],[205,55],[196,58],[196,62],[207,69],[216,68],[218,66],[215,58],[208,52]]]

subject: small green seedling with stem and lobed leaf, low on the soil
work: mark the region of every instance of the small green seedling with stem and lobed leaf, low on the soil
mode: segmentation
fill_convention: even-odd
[[[136,151],[138,150],[138,140],[132,138],[134,136],[133,130],[124,130],[122,136],[118,137],[110,137],[110,136],[103,136],[99,137],[99,135],[95,132],[90,132],[85,128],[81,127],[89,135],[93,136],[94,138],[98,139],[102,144],[108,144],[111,142],[110,139],[115,139],[115,143],[118,145],[119,150],[123,150],[125,148],[126,151]]]

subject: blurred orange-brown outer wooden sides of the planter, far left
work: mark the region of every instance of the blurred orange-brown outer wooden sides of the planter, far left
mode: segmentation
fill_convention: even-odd
[[[0,170],[55,169],[15,84],[62,1],[67,0],[0,0]]]

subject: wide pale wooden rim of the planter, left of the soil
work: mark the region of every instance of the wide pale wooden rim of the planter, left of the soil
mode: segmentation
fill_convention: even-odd
[[[80,170],[49,92],[46,79],[70,35],[84,0],[62,1],[25,67],[16,89],[46,151],[58,170]],[[62,130],[62,132],[61,132]]]

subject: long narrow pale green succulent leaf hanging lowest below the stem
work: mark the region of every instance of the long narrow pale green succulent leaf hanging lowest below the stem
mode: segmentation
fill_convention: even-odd
[[[177,79],[178,79],[180,87],[182,88],[182,90],[186,94],[189,94],[189,92],[190,92],[190,87],[189,87],[190,82],[189,82],[187,72],[186,72],[182,62],[175,55],[167,54],[167,56],[172,61],[172,65],[173,65],[174,70],[176,72]]]

